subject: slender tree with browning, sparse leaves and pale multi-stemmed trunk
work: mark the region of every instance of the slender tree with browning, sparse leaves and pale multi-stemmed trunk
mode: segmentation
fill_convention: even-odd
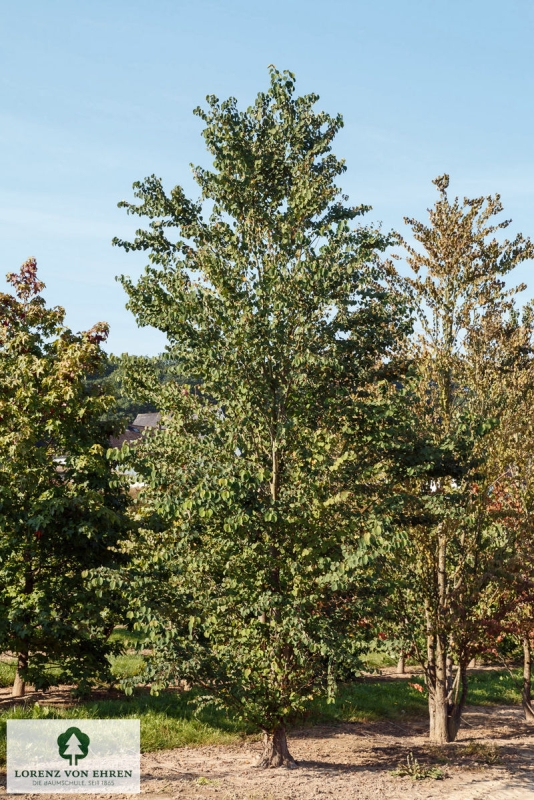
[[[405,542],[384,571],[395,583],[396,625],[425,669],[435,742],[455,739],[467,665],[490,646],[514,602],[518,527],[510,504],[503,510],[496,498],[517,473],[513,441],[534,388],[532,315],[527,308],[521,321],[513,302],[524,287],[506,290],[503,281],[533,257],[532,244],[520,234],[496,238],[509,225],[493,224],[498,195],[462,205],[449,200],[448,182],[434,181],[429,225],[405,220],[421,246],[405,244],[421,323],[412,408],[436,457],[407,484]]]

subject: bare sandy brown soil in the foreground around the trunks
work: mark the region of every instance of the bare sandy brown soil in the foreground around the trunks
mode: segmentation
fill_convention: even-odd
[[[519,708],[468,708],[458,741],[444,747],[429,744],[425,720],[412,719],[301,729],[290,749],[295,770],[254,769],[256,741],[145,753],[141,790],[145,800],[534,800],[534,728]],[[443,779],[392,775],[409,753]]]

